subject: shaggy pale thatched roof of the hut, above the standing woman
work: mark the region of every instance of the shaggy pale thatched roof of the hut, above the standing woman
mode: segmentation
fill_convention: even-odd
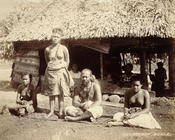
[[[43,7],[8,40],[48,40],[53,28],[64,38],[175,38],[175,0],[59,0]]]

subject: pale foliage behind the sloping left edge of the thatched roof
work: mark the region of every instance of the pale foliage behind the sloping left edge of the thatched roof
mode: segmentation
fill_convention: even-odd
[[[0,19],[0,38],[7,36],[11,30],[19,22],[25,24],[48,2],[36,3],[30,1],[18,2],[15,6],[11,6],[8,14]]]

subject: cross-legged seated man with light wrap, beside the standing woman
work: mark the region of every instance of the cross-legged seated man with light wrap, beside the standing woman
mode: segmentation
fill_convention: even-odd
[[[101,88],[91,70],[81,72],[81,84],[75,88],[73,106],[65,109],[65,120],[79,121],[90,119],[94,122],[103,114]]]

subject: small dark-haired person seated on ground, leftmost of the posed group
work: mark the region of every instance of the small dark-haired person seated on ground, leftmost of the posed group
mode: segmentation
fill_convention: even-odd
[[[33,95],[34,87],[31,84],[32,75],[23,74],[23,83],[18,86],[16,106],[9,108],[14,109],[19,116],[24,116],[26,114],[31,114],[34,112],[33,108]]]

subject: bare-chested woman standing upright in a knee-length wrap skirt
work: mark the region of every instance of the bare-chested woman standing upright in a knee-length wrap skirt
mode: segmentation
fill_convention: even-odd
[[[45,49],[47,68],[45,71],[44,94],[49,96],[50,113],[47,117],[54,115],[55,98],[58,97],[59,118],[64,115],[64,96],[69,96],[69,87],[73,80],[68,73],[69,52],[61,45],[61,29],[53,29],[52,45]]]

